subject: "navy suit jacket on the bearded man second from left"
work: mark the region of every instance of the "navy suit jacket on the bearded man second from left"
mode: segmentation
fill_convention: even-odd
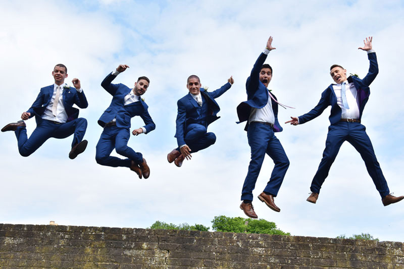
[[[151,120],[151,117],[148,114],[148,106],[141,98],[138,102],[124,105],[124,98],[132,89],[122,83],[112,84],[111,82],[116,77],[117,76],[110,73],[101,83],[101,86],[103,86],[113,98],[108,109],[99,118],[98,124],[101,127],[104,127],[106,123],[109,123],[116,118],[116,123],[119,128],[130,128],[131,118],[134,116],[140,116],[145,124],[145,126],[143,126],[146,129],[145,133],[156,129],[155,123]]]

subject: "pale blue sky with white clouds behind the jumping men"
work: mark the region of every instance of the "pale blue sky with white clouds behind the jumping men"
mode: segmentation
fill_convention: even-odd
[[[360,154],[345,142],[331,167],[317,204],[306,201],[325,146],[330,109],[304,125],[286,125],[290,116],[309,112],[332,79],[329,67],[342,65],[364,77],[369,68],[363,45],[373,36],[379,74],[371,85],[362,123],[394,195],[404,195],[404,143],[401,117],[404,43],[403,1],[8,1],[0,4],[0,125],[20,119],[41,87],[53,84],[58,63],[66,81],[81,80],[88,108],[85,152],[68,158],[73,136],[49,139],[29,157],[18,153],[13,132],[0,134],[0,223],[147,228],[156,221],[212,227],[215,216],[246,218],[241,187],[250,159],[244,124],[236,106],[246,100],[245,81],[273,36],[266,63],[273,67],[269,89],[281,103],[284,131],[276,136],[290,167],[272,211],[257,196],[266,186],[269,156],[254,190],[260,219],[291,235],[336,237],[369,233],[381,241],[404,241],[404,202],[384,207]],[[102,80],[119,64],[130,68],[114,83],[132,87],[139,76],[150,85],[143,95],[156,130],[131,136],[143,153],[148,179],[128,168],[100,166],[95,145],[97,120],[111,102]],[[217,89],[235,83],[217,102],[221,118],[208,130],[216,143],[185,160],[167,162],[176,145],[176,102],[187,94],[186,78]],[[26,121],[28,134],[35,120]],[[132,128],[143,126],[140,117]],[[118,156],[116,152],[114,155]]]

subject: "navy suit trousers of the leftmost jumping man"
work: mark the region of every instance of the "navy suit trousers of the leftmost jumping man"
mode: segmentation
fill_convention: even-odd
[[[42,120],[42,122],[36,126],[29,138],[25,127],[18,127],[15,134],[18,141],[18,150],[22,156],[26,157],[35,152],[35,150],[51,137],[66,138],[74,134],[72,142],[73,147],[83,140],[86,129],[87,120],[84,118],[78,118],[61,124]]]

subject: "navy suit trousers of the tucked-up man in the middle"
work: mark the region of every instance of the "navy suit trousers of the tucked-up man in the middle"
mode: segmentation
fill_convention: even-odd
[[[215,144],[216,135],[207,133],[204,125],[191,123],[186,127],[184,140],[192,154]],[[177,150],[180,151],[179,148]]]

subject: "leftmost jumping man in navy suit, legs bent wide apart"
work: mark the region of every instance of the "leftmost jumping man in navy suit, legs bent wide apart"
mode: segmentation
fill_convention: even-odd
[[[76,104],[85,109],[88,106],[87,99],[79,79],[72,80],[75,88],[65,84],[65,78],[68,76],[65,65],[56,65],[52,76],[55,83],[40,89],[30,109],[22,113],[22,121],[6,125],[2,132],[15,131],[18,150],[24,157],[32,154],[51,137],[66,138],[74,134],[72,149],[69,152],[69,158],[74,159],[87,147],[87,140],[83,140],[87,121],[78,118],[79,110],[72,106]],[[34,116],[36,128],[28,138],[24,121]]]

